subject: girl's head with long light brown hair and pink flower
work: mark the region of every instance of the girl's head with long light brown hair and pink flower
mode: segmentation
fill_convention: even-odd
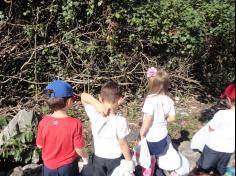
[[[148,69],[147,72],[148,80],[148,94],[167,94],[170,79],[169,74],[164,70],[157,70],[156,68],[152,67]]]

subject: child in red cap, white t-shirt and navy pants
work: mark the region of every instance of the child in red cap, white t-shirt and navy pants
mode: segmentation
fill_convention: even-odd
[[[226,88],[224,97],[228,109],[218,111],[209,122],[209,140],[197,163],[199,175],[200,171],[224,175],[235,151],[235,84]]]

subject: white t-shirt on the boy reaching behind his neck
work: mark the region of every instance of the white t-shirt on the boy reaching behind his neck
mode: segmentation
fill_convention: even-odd
[[[121,157],[118,139],[130,133],[126,118],[119,115],[103,117],[91,105],[86,105],[85,111],[91,122],[95,155],[105,159]]]

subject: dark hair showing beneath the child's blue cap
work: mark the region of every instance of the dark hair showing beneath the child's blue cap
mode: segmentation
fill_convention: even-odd
[[[52,90],[45,90],[44,91],[44,100],[47,103],[48,107],[53,110],[57,111],[66,107],[67,100],[70,97],[51,97]]]

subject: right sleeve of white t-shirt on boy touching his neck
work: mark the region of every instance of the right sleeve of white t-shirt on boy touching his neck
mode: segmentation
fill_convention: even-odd
[[[128,126],[128,122],[125,118],[119,118],[118,119],[118,127],[117,127],[117,137],[119,139],[125,138],[130,133],[130,129]]]

